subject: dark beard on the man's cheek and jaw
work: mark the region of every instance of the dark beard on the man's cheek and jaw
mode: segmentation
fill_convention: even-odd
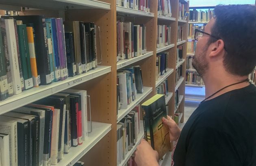
[[[195,68],[195,70],[200,76],[204,76],[206,70],[208,69],[208,62],[206,60],[206,49],[204,49],[197,55],[194,55],[192,66],[193,68]]]

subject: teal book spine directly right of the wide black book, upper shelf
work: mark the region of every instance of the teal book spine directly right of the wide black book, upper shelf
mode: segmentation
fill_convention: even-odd
[[[54,77],[54,62],[52,59],[52,40],[50,35],[50,23],[48,22],[46,22],[46,36],[47,36],[48,53],[49,53],[49,60],[50,60],[51,78],[52,78],[52,82],[54,82],[55,77]]]

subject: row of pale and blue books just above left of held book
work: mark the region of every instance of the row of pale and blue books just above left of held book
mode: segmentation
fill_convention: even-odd
[[[140,66],[128,66],[117,70],[117,109],[127,109],[144,91]]]

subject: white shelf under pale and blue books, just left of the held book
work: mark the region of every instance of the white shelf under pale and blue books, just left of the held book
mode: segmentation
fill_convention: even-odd
[[[134,109],[135,106],[137,106],[145,97],[152,92],[152,87],[144,87],[144,92],[143,94],[137,94],[136,100],[132,101],[127,109],[119,109],[118,110],[118,115],[117,115],[117,123],[123,119],[132,109]]]

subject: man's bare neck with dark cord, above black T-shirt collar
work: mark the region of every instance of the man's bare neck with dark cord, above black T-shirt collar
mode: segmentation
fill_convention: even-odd
[[[213,95],[215,92],[219,91],[223,87],[226,87],[234,83],[239,83],[241,81],[244,81],[245,79],[247,79],[246,76],[237,77],[232,74],[217,74],[217,73],[206,74],[203,77],[204,84],[205,84],[205,97],[208,98],[209,96]],[[249,85],[248,82],[232,85],[230,87],[227,87],[221,90],[220,92],[218,92],[217,94],[209,98],[208,100],[215,98],[217,96],[220,96],[221,94],[224,94],[226,92],[232,91],[234,89],[240,89],[240,88],[246,87],[247,85]]]

